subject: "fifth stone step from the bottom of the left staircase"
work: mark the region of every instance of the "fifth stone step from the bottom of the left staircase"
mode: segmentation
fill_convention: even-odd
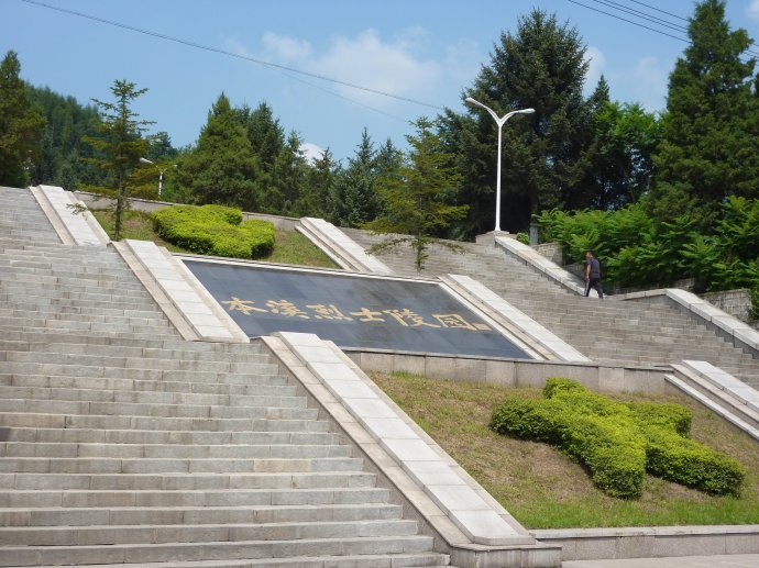
[[[162,508],[162,506],[261,506],[261,505],[344,505],[387,503],[389,490],[383,488],[324,489],[230,489],[227,491],[151,490],[4,490],[0,508]]]

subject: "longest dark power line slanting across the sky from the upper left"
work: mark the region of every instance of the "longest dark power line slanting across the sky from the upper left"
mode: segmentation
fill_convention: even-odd
[[[153,32],[153,31],[151,31],[151,30],[144,30],[144,29],[142,29],[142,27],[135,27],[135,26],[133,26],[133,25],[124,24],[124,23],[121,23],[121,22],[114,22],[113,20],[107,20],[107,19],[105,19],[105,18],[99,18],[99,16],[97,16],[97,15],[85,14],[85,13],[82,13],[82,12],[77,12],[77,11],[75,11],[75,10],[68,10],[68,9],[66,9],[66,8],[61,8],[61,7],[57,7],[57,5],[46,4],[46,3],[40,2],[40,1],[37,1],[37,0],[21,0],[21,1],[22,1],[22,2],[26,2],[28,4],[38,5],[38,7],[41,7],[41,8],[47,8],[48,10],[55,10],[55,11],[57,11],[57,12],[63,12],[63,13],[67,13],[67,14],[70,14],[70,15],[76,15],[77,18],[85,18],[85,19],[87,19],[87,20],[92,20],[92,21],[95,21],[95,22],[100,22],[100,23],[105,23],[105,24],[108,24],[108,25],[113,25],[113,26],[116,26],[116,27],[121,27],[121,29],[123,29],[123,30],[129,30],[129,31],[136,32],[136,33],[141,33],[141,34],[144,34],[144,35],[150,35],[150,36],[153,36],[153,37],[157,37],[157,38],[160,38],[160,40],[166,40],[166,41],[168,41],[168,42],[174,42],[174,43],[178,43],[178,44],[182,44],[182,45],[187,45],[187,46],[189,46],[189,47],[195,47],[195,48],[197,48],[197,49],[204,49],[204,51],[207,51],[207,52],[212,52],[212,53],[218,53],[218,54],[222,54],[222,55],[228,55],[228,56],[230,56],[230,57],[237,57],[238,59],[244,59],[244,60],[246,60],[246,62],[252,62],[252,63],[262,65],[262,66],[264,66],[264,67],[277,68],[277,69],[285,70],[285,71],[294,73],[294,74],[297,74],[297,75],[304,75],[304,76],[306,76],[306,77],[311,77],[311,78],[319,79],[319,80],[322,80],[322,81],[333,82],[333,83],[336,83],[336,85],[342,85],[343,87],[350,87],[351,89],[358,89],[358,90],[362,90],[362,91],[365,91],[365,92],[371,92],[371,93],[373,93],[373,94],[381,94],[382,97],[387,97],[387,98],[389,98],[389,99],[396,99],[396,100],[404,101],[404,102],[410,102],[410,103],[413,103],[413,104],[419,104],[419,105],[421,105],[421,107],[428,107],[428,108],[435,109],[435,110],[440,110],[440,111],[441,111],[441,110],[444,110],[442,107],[439,107],[439,105],[437,105],[437,104],[431,104],[431,103],[429,103],[429,102],[424,102],[424,101],[419,101],[419,100],[416,100],[416,99],[410,99],[410,98],[408,98],[408,97],[402,97],[402,96],[399,96],[399,94],[393,94],[392,92],[381,91],[381,90],[378,90],[378,89],[373,89],[373,88],[371,88],[371,87],[363,87],[363,86],[361,86],[361,85],[355,85],[355,83],[348,82],[348,81],[343,81],[343,80],[340,80],[340,79],[334,79],[334,78],[332,78],[332,77],[326,77],[326,76],[323,76],[323,75],[318,75],[318,74],[315,74],[315,73],[308,73],[308,71],[300,70],[300,69],[295,69],[295,68],[293,68],[293,67],[287,67],[287,66],[285,66],[285,65],[279,65],[279,64],[272,63],[272,62],[264,62],[264,60],[262,60],[262,59],[257,59],[257,58],[251,57],[251,56],[249,56],[249,55],[242,55],[242,54],[239,54],[239,53],[228,52],[228,51],[221,49],[221,48],[219,48],[219,47],[212,47],[212,46],[209,46],[209,45],[199,44],[199,43],[196,43],[196,42],[191,42],[191,41],[189,41],[189,40],[183,40],[183,38],[180,38],[180,37],[173,37],[173,36],[170,36],[170,35],[165,35],[165,34],[162,34],[162,33],[158,33],[158,32]],[[327,92],[332,92],[332,91],[327,91]],[[333,93],[333,92],[332,92],[332,94],[336,94],[336,96],[337,96],[337,93]],[[342,97],[342,98],[343,98],[343,99],[346,99],[345,97]],[[350,100],[350,99],[348,99],[348,100]],[[352,102],[356,102],[356,101],[352,101]],[[361,103],[358,103],[358,104],[361,104]],[[365,107],[365,105],[364,105],[364,107]],[[375,110],[376,110],[376,109],[375,109]],[[378,111],[378,112],[382,112],[382,111]]]

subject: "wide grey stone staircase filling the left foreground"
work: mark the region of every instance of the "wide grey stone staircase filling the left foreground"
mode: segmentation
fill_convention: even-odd
[[[182,339],[0,188],[0,566],[446,566],[258,344]]]

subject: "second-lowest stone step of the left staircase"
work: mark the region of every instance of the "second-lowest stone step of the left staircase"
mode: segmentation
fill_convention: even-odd
[[[432,537],[384,536],[350,538],[301,538],[296,541],[232,541],[112,546],[9,546],[0,566],[61,566],[81,564],[128,564],[174,560],[266,559],[363,554],[429,554]],[[440,555],[437,555],[440,557]],[[216,563],[215,563],[216,564]],[[264,566],[266,564],[264,563]],[[376,568],[382,565],[366,564]]]

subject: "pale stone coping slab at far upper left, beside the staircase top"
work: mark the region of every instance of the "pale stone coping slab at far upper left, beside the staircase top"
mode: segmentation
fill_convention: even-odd
[[[64,244],[106,246],[111,242],[87,205],[70,191],[56,186],[36,186],[31,189]],[[76,212],[76,207],[82,210]]]

